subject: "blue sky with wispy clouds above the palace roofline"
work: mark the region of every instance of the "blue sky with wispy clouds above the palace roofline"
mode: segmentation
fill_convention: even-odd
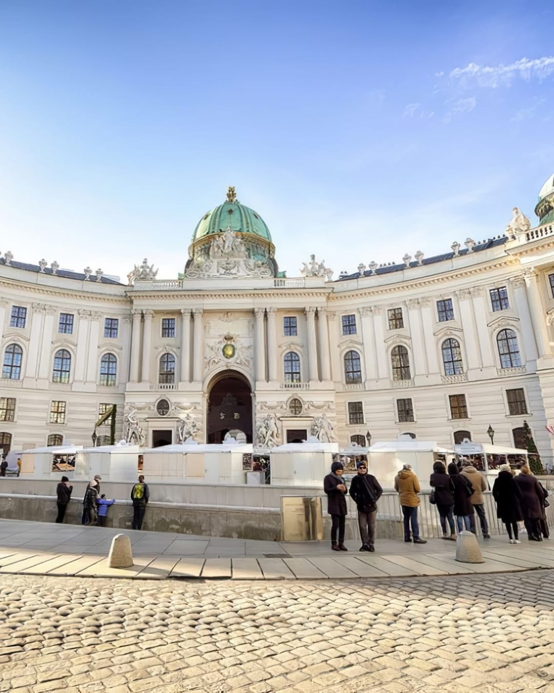
[[[553,35],[537,2],[3,0],[0,250],[175,277],[229,185],[289,276],[534,224]]]

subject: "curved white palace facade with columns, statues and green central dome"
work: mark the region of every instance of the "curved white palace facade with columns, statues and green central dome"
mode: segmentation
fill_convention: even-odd
[[[89,445],[116,404],[116,439],[192,436],[271,446],[319,421],[341,447],[411,433],[524,446],[554,436],[554,177],[538,225],[396,265],[278,270],[262,218],[235,198],[200,220],[178,279],[143,261],[129,283],[0,259],[0,445]],[[109,426],[96,432],[109,440]]]

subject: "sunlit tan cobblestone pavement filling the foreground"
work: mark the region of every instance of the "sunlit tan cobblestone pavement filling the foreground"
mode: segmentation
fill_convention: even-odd
[[[0,691],[554,691],[554,572],[0,576]]]

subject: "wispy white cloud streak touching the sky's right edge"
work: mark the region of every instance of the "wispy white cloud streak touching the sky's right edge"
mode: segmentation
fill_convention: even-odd
[[[534,79],[542,82],[552,73],[554,73],[554,56],[549,55],[535,58],[535,60],[521,58],[509,65],[501,63],[492,67],[470,62],[467,67],[456,67],[450,71],[449,78],[457,82],[463,89],[470,89],[474,86],[497,89],[498,87],[510,87],[516,78],[526,82]]]

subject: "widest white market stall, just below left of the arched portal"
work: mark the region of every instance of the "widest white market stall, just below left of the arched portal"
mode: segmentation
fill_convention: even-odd
[[[193,484],[245,484],[252,470],[253,447],[247,443],[199,444],[193,440],[143,452],[149,481]]]

